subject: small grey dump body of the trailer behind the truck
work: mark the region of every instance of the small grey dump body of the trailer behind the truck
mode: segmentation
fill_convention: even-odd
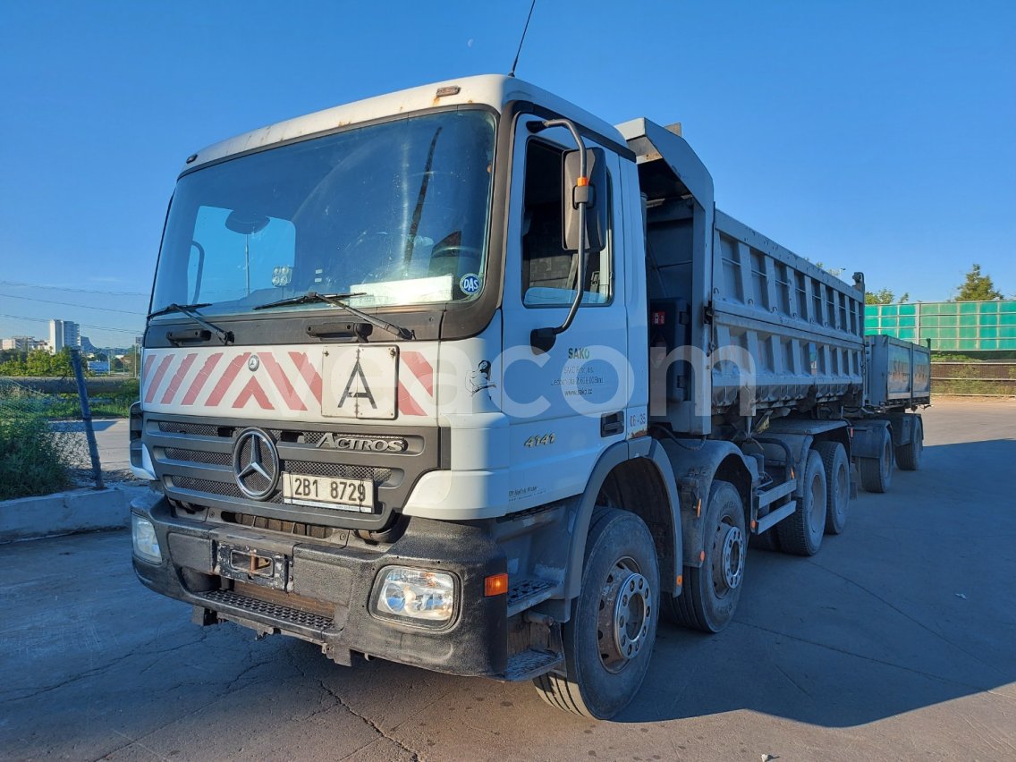
[[[867,403],[888,409],[930,404],[932,354],[920,344],[886,335],[866,336]]]

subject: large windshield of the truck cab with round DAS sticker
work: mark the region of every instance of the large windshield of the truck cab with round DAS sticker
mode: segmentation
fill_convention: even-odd
[[[443,112],[184,176],[151,312],[247,312],[308,292],[356,307],[464,301],[484,281],[494,118]],[[285,310],[321,309],[320,302]]]

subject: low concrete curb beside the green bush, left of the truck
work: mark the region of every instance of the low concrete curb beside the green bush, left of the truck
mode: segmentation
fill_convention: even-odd
[[[147,491],[147,487],[117,486],[4,500],[0,544],[125,527],[130,523],[130,501]]]

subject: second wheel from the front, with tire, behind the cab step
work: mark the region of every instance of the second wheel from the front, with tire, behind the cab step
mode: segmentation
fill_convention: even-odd
[[[745,506],[729,482],[714,481],[702,523],[705,558],[684,568],[680,595],[663,600],[666,618],[703,632],[719,632],[734,619],[748,560]]]

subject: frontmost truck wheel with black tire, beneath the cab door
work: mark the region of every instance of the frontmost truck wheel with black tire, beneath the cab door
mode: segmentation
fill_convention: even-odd
[[[656,639],[659,567],[641,518],[598,509],[585,544],[582,589],[562,628],[567,677],[533,680],[551,706],[594,719],[624,709],[642,687]]]

